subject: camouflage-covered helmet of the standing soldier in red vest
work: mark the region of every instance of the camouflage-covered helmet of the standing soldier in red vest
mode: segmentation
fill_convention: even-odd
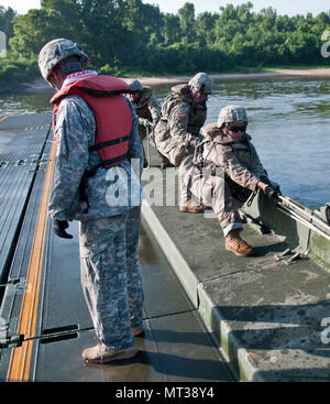
[[[43,78],[52,86],[50,76],[54,67],[69,56],[78,56],[78,62],[84,68],[87,67],[88,56],[80,47],[70,40],[56,39],[46,43],[38,53],[38,68]],[[77,62],[76,62],[77,63]]]

